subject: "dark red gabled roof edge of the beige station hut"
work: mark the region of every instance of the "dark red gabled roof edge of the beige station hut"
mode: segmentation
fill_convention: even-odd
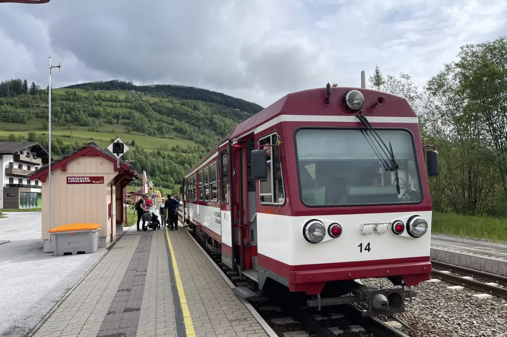
[[[85,145],[77,148],[76,150],[70,152],[67,155],[61,156],[60,158],[53,160],[51,162],[51,169],[54,170],[55,168],[58,168],[64,164],[66,164],[70,160],[73,160],[77,157],[80,157],[81,155],[84,155],[85,153],[90,153],[90,152],[92,154],[104,157],[107,160],[110,160],[116,164],[117,159],[113,153],[111,153],[107,150],[104,150],[100,146],[98,146],[97,144],[91,142],[91,143],[85,144]],[[45,164],[44,166],[39,168],[39,170],[34,171],[30,175],[28,175],[28,177],[30,178],[30,180],[39,179],[40,177],[48,174],[48,171],[49,171],[48,168],[49,168],[49,164]],[[135,171],[135,168],[131,164],[129,164],[128,162],[121,160],[121,159],[120,159],[120,168],[123,171],[128,172],[134,178],[141,179],[141,175],[137,171]]]

